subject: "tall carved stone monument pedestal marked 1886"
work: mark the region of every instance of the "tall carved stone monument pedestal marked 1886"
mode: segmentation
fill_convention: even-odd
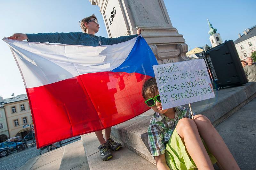
[[[183,35],[172,26],[163,0],[89,0],[100,7],[108,37],[133,35],[141,28],[159,64],[189,60]]]

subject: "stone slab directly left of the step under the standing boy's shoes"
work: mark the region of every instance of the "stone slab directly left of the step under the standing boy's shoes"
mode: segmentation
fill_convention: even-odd
[[[61,159],[60,170],[88,169],[88,162],[82,140],[78,140],[65,146]]]

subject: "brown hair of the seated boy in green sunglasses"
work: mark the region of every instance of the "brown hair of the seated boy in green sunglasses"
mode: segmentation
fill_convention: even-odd
[[[149,78],[147,81],[144,82],[142,87],[142,96],[145,100],[155,97],[156,92],[158,91],[156,78],[152,77]]]

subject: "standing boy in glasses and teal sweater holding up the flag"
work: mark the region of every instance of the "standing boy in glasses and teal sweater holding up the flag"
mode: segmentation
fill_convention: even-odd
[[[37,33],[37,34],[24,34],[24,33],[15,33],[12,36],[8,37],[12,40],[18,41],[31,41],[31,42],[49,42],[49,43],[61,43],[69,45],[84,45],[84,46],[101,46],[101,45],[111,45],[121,42],[131,40],[134,37],[140,35],[141,29],[137,30],[136,35],[130,36],[121,36],[117,38],[105,38],[95,36],[95,33],[99,31],[100,25],[96,16],[93,14],[89,17],[86,17],[80,20],[80,27],[83,32],[74,32],[74,33]],[[117,151],[121,148],[120,143],[116,143],[113,139],[110,138],[111,127],[105,129],[105,138],[103,137],[102,130],[95,131],[95,134],[100,142],[98,149],[100,150],[100,156],[102,160],[108,160],[112,158],[112,154],[109,151]]]

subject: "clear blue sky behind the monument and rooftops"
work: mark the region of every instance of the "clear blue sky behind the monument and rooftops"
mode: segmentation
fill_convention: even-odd
[[[207,18],[222,40],[236,40],[238,33],[256,25],[255,0],[172,1],[164,0],[172,26],[194,47],[210,45]],[[0,37],[13,33],[48,33],[81,31],[80,19],[95,14],[100,22],[98,36],[107,37],[99,7],[89,0],[12,0],[1,1]],[[26,93],[10,48],[0,41],[0,96],[3,98]]]

